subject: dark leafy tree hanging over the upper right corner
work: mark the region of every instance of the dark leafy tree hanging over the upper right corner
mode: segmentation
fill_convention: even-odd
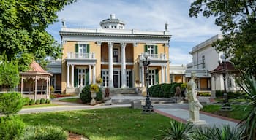
[[[196,0],[189,9],[190,17],[200,12],[209,18],[216,17],[223,39],[214,43],[224,51],[234,66],[256,75],[256,1],[255,0]]]

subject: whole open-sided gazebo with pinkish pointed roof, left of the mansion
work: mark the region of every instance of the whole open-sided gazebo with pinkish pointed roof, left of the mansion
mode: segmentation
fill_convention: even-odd
[[[20,72],[20,92],[23,97],[29,97],[34,100],[50,98],[51,76],[52,74],[42,69],[36,61],[33,61],[29,71]],[[32,84],[33,86],[31,87]]]

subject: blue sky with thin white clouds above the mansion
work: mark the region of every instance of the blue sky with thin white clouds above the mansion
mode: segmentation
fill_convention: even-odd
[[[48,26],[47,31],[60,42],[61,19],[67,28],[100,28],[99,22],[115,14],[126,23],[125,29],[140,31],[164,31],[168,23],[171,39],[170,64],[192,62],[192,47],[211,36],[221,34],[214,25],[214,18],[189,17],[193,0],[78,0],[58,12],[58,22]]]

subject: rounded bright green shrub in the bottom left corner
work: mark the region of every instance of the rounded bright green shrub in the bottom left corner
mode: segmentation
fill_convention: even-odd
[[[18,117],[9,116],[0,118],[0,139],[10,140],[18,139],[23,131],[25,125]]]

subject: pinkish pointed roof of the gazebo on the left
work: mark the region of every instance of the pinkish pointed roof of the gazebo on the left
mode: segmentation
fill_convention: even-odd
[[[30,69],[28,71],[20,72],[20,74],[40,74],[52,76],[52,74],[42,69],[42,67],[36,61],[33,61],[29,67]]]

